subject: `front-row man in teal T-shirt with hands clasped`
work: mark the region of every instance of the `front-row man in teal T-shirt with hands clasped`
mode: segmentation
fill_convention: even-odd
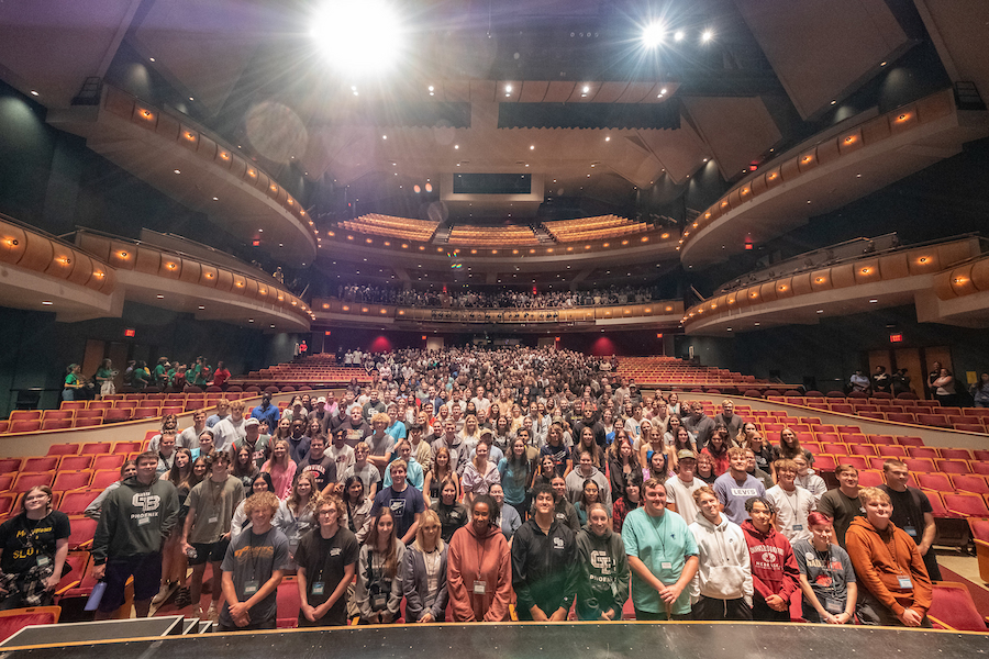
[[[666,510],[662,481],[651,478],[642,491],[644,505],[629,513],[622,524],[635,619],[690,619],[687,587],[699,565],[697,541],[684,518]]]

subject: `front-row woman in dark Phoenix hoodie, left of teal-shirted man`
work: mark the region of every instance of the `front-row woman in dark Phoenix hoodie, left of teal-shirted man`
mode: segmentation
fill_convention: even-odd
[[[601,503],[587,511],[587,527],[577,534],[580,572],[577,580],[577,618],[616,621],[629,599],[629,560],[620,534]]]

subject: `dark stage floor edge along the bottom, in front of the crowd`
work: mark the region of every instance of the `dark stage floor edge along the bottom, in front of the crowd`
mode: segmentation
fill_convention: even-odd
[[[347,659],[948,659],[989,654],[986,634],[765,623],[442,624],[203,635],[173,630],[171,636],[97,643],[59,641],[56,627],[47,632],[44,645],[4,647],[0,659],[64,659],[67,654],[80,659],[249,659],[316,652]]]

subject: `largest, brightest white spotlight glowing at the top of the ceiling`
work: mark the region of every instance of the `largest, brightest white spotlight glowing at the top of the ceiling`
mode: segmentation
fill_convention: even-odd
[[[398,14],[385,0],[325,0],[313,15],[311,35],[326,63],[348,75],[387,69],[405,41]]]

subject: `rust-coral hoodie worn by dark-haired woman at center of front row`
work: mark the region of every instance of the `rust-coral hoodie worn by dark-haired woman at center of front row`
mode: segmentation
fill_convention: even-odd
[[[484,582],[484,593],[475,588]],[[498,526],[478,534],[474,524],[454,533],[447,549],[447,591],[454,621],[498,623],[512,600],[512,557]]]

